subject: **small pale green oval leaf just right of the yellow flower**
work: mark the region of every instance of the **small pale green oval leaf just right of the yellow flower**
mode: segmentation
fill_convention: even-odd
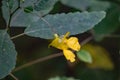
[[[92,63],[92,57],[88,51],[80,50],[76,54],[80,60],[84,62]]]

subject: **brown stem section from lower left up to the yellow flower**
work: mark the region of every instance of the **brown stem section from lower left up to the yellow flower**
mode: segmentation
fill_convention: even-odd
[[[57,54],[52,54],[52,55],[49,55],[49,56],[46,56],[46,57],[43,57],[43,58],[36,59],[34,61],[30,61],[30,62],[28,62],[28,63],[26,63],[22,66],[19,66],[19,67],[15,68],[13,70],[13,72],[21,70],[21,69],[26,68],[26,67],[29,67],[33,64],[37,64],[39,62],[43,62],[43,61],[46,61],[46,60],[49,60],[49,59],[52,59],[52,58],[56,58],[56,57],[59,57],[59,56],[62,56],[62,55],[63,55],[62,53],[57,53]]]

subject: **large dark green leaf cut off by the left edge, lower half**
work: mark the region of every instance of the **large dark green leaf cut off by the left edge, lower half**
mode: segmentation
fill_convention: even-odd
[[[5,30],[0,30],[0,79],[7,76],[15,67],[16,55],[13,42]]]

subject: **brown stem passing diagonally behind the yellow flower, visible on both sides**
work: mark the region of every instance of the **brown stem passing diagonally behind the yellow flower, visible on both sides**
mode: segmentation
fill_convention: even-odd
[[[90,40],[92,40],[93,37],[88,37],[86,40],[84,40],[83,42],[81,42],[81,45],[84,45],[86,43],[88,43]],[[43,57],[43,58],[39,58],[39,59],[36,59],[34,61],[30,61],[26,64],[23,64],[22,66],[19,66],[17,68],[15,68],[13,70],[13,72],[16,72],[16,71],[19,71],[21,69],[24,69],[24,68],[27,68],[29,66],[32,66],[33,64],[37,64],[37,63],[40,63],[40,62],[43,62],[43,61],[46,61],[46,60],[49,60],[49,59],[52,59],[52,58],[56,58],[56,57],[59,57],[59,56],[63,56],[62,52],[60,53],[57,53],[57,54],[52,54],[52,55],[49,55],[49,56],[46,56],[46,57]]]

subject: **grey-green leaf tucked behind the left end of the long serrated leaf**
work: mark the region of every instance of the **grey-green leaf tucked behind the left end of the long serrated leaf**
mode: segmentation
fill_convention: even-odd
[[[26,13],[24,10],[19,9],[12,17],[11,27],[27,27],[32,22],[39,19],[38,16],[31,13]]]

